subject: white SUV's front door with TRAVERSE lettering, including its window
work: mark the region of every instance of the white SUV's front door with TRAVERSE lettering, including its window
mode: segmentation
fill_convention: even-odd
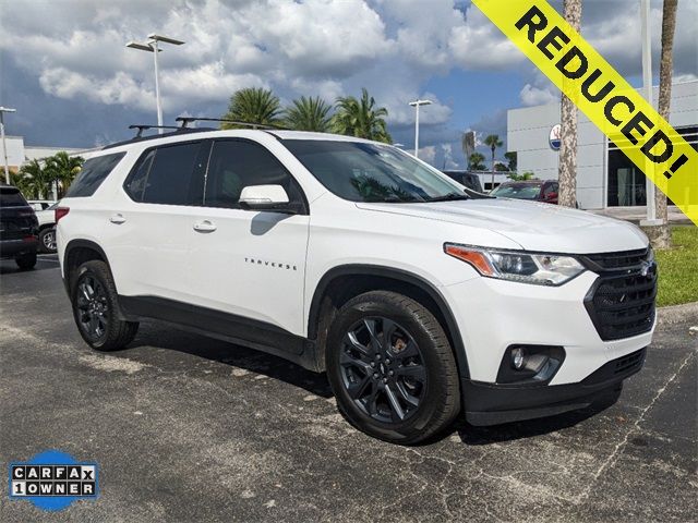
[[[302,214],[240,208],[249,185],[281,185]],[[207,231],[194,233],[191,278],[196,302],[207,308],[304,332],[303,287],[310,217],[298,182],[264,146],[218,139],[210,151],[204,206]],[[248,332],[253,332],[249,329]],[[250,340],[257,341],[257,340]]]

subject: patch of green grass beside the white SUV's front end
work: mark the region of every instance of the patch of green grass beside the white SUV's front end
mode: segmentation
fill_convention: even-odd
[[[672,239],[674,248],[655,253],[660,307],[698,302],[698,227],[676,227]]]

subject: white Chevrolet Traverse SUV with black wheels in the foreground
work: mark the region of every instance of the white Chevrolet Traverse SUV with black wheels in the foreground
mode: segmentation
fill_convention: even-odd
[[[169,321],[327,372],[358,428],[414,443],[617,398],[657,269],[635,226],[471,193],[347,136],[182,130],[93,154],[57,209],[97,350]]]

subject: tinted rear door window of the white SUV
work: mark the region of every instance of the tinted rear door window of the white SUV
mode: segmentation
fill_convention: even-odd
[[[146,204],[201,205],[203,148],[190,142],[148,151],[127,179],[125,192]]]

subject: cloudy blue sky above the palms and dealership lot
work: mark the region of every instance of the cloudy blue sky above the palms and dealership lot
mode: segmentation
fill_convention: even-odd
[[[583,0],[582,34],[640,83],[639,0]],[[698,0],[679,0],[674,74],[698,77]],[[553,2],[562,10],[562,0]],[[654,64],[661,0],[652,2]],[[8,133],[31,145],[89,147],[155,121],[152,56],[127,49],[149,33],[186,40],[160,53],[166,123],[220,115],[241,87],[282,101],[333,101],[365,86],[389,110],[394,139],[462,166],[460,134],[506,137],[506,110],[559,93],[467,0],[0,0],[0,104]],[[659,73],[655,72],[658,75]]]

